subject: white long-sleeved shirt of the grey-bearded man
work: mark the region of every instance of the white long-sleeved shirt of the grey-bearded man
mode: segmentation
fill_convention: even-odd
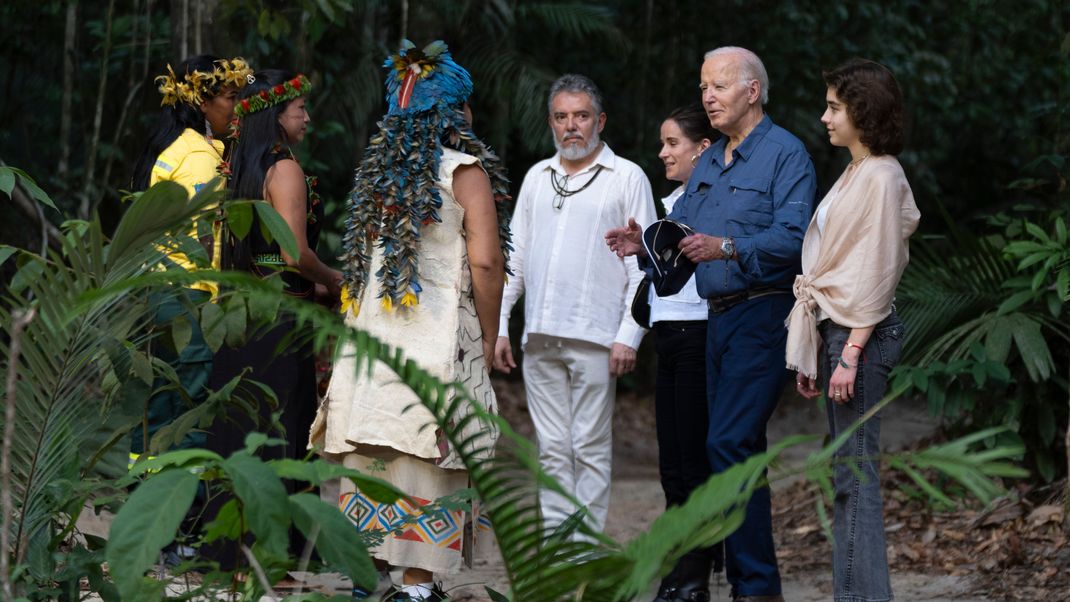
[[[653,223],[651,182],[636,164],[603,144],[598,157],[565,184],[582,192],[555,199],[551,174],[565,175],[560,155],[544,159],[524,176],[513,214],[513,276],[502,297],[500,336],[509,333],[509,313],[524,295],[524,342],[530,333],[579,339],[606,348],[639,348],[646,333],[629,309],[643,279],[636,258],[621,259],[606,246],[606,232],[635,217]],[[555,201],[561,209],[554,209]]]

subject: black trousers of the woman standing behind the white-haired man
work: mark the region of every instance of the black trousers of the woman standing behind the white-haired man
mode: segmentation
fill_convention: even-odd
[[[708,403],[706,401],[706,321],[655,322],[658,372],[654,408],[658,433],[658,468],[666,507],[687,501],[713,470],[706,454]],[[719,571],[721,544],[696,550],[681,559],[668,580]]]

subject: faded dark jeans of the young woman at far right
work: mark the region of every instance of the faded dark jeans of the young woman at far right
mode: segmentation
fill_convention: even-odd
[[[824,349],[822,388],[828,399],[828,432],[835,439],[875,405],[888,389],[888,372],[899,362],[903,323],[895,311],[873,329],[858,360],[855,397],[835,403],[828,381],[847,342],[850,328],[821,324]],[[862,422],[836,451],[834,467],[832,595],[837,602],[891,600],[881,498],[881,413]]]

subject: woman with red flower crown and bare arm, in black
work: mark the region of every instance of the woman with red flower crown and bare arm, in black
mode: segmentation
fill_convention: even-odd
[[[304,75],[279,70],[257,72],[243,90],[235,106],[239,117],[236,141],[230,155],[231,199],[262,199],[290,227],[297,254],[290,256],[276,241],[261,233],[258,212],[253,213],[248,234],[236,240],[227,235],[223,246],[223,267],[249,272],[263,278],[280,278],[282,292],[299,298],[338,300],[341,273],[316,254],[323,223],[323,204],[312,191],[312,179],[306,177],[290,148],[300,143],[308,128],[305,107],[311,83]],[[333,299],[333,300],[332,300]],[[249,416],[235,407],[216,417],[208,448],[228,456],[245,447],[245,435],[258,431],[281,438],[285,445],[264,447],[265,459],[301,459],[305,456],[308,428],[316,414],[316,368],[310,337],[295,328],[291,314],[280,311],[266,326],[256,325],[245,344],[223,346],[215,355],[210,387],[218,390],[233,377],[245,377],[268,385],[277,406],[269,403],[257,387],[246,391],[257,398],[258,415]],[[244,387],[244,385],[243,385]],[[214,497],[211,509],[221,507],[226,496]],[[212,518],[212,511],[208,516]],[[303,541],[291,537],[290,551],[302,552]],[[221,545],[213,556],[225,569],[242,561],[236,546]]]

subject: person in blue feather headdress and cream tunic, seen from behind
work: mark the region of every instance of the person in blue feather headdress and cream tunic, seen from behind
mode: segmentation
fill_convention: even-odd
[[[421,50],[406,41],[383,66],[388,110],[347,204],[346,322],[402,349],[441,381],[463,383],[493,412],[488,372],[509,251],[508,181],[472,133],[472,79],[443,42]],[[496,431],[463,418],[462,408],[462,438],[477,436],[478,453],[489,454]],[[352,350],[340,351],[312,445],[412,496],[380,504],[342,480],[346,515],[361,530],[387,531],[372,555],[404,569],[384,600],[445,599],[434,573],[458,571],[475,540],[491,535],[477,503],[433,520],[422,513],[421,506],[469,487],[457,450],[426,428],[432,421],[389,369],[358,373]]]

